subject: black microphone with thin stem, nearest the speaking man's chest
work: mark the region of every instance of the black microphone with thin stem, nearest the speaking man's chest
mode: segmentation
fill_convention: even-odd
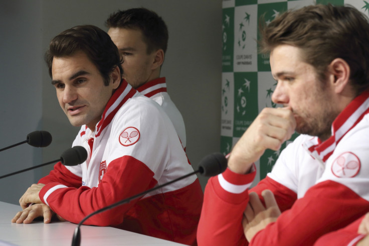
[[[62,162],[62,164],[65,166],[76,166],[86,161],[86,159],[87,159],[86,149],[83,148],[82,146],[74,146],[73,148],[69,148],[66,151],[64,151],[62,155],[60,156],[60,159],[58,160],[40,164],[34,167],[26,168],[26,169],[23,169],[21,171],[17,171],[14,173],[6,174],[3,176],[0,176],[0,179],[9,177],[15,174],[23,173],[23,172],[26,172],[26,171],[29,171],[29,170],[32,170],[38,167],[43,167],[43,166],[49,165],[51,163],[59,162],[59,161]]]

